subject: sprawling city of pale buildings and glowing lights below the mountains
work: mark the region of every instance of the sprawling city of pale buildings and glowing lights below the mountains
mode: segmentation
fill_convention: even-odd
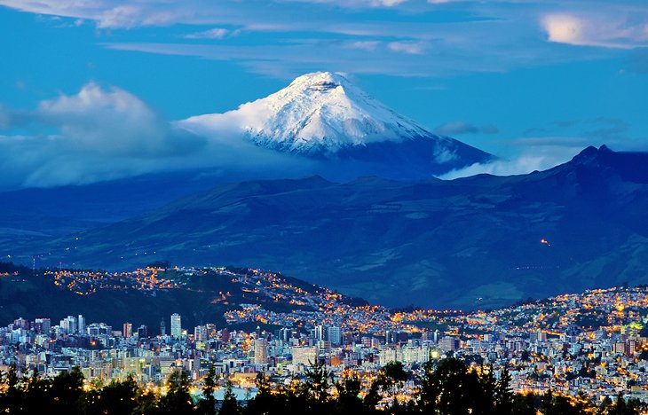
[[[122,274],[48,272],[54,284],[78,295],[115,288],[154,293],[182,289],[183,284],[155,268]],[[88,382],[131,375],[149,388],[161,388],[171,372],[181,369],[197,391],[213,366],[244,399],[255,394],[258,372],[288,383],[317,361],[338,378],[357,374],[368,388],[387,363],[398,361],[416,372],[429,360],[454,356],[470,365],[492,365],[495,376],[506,368],[518,392],[541,394],[550,388],[564,395],[584,393],[597,402],[619,393],[648,401],[646,287],[564,294],[487,312],[394,311],[354,306],[341,294],[304,290],[262,270],[174,272],[186,280],[200,274],[230,278],[244,291],[287,301],[296,309],[278,312],[257,303],[231,303],[224,314],[226,325],[194,327],[184,325],[174,310],[156,327],[133,323],[136,316],[119,327],[89,323],[80,315],[57,321],[17,317],[0,327],[0,371],[15,365],[25,374],[36,368],[53,377],[78,366]],[[215,301],[225,302],[227,295],[221,293]],[[258,327],[235,328],[246,324]],[[413,393],[414,381],[403,390]]]

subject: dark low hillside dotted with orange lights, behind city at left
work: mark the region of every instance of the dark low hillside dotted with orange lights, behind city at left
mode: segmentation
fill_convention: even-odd
[[[333,299],[333,300],[331,300]],[[0,262],[0,325],[14,318],[51,317],[52,325],[83,314],[115,330],[122,323],[147,325],[160,332],[160,322],[178,313],[184,327],[214,323],[220,327],[263,324],[228,317],[245,307],[289,313],[320,309],[322,304],[363,305],[365,301],[334,294],[281,274],[233,267],[178,269],[146,267],[120,273],[101,270],[30,270]],[[242,305],[241,305],[242,304]],[[280,321],[272,324],[280,324]]]

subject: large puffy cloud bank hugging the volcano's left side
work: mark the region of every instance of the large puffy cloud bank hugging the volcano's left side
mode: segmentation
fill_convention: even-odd
[[[194,169],[295,175],[307,166],[240,135],[201,137],[178,128],[130,92],[94,82],[76,94],[44,100],[32,111],[0,107],[2,131],[2,189]]]

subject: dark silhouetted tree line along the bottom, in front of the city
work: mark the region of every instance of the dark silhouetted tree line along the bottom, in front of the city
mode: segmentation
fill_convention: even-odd
[[[404,398],[405,383],[415,383],[415,394]],[[257,376],[257,395],[241,405],[227,381],[225,397],[217,402],[216,373],[211,367],[199,399],[190,393],[186,372],[172,372],[167,393],[146,390],[132,378],[112,380],[107,385],[83,388],[83,374],[78,368],[44,379],[33,372],[20,377],[15,367],[0,372],[0,413],[99,414],[204,414],[204,415],[274,415],[302,413],[309,415],[438,414],[438,415],[600,415],[638,414],[636,401],[626,402],[621,395],[612,402],[605,399],[597,407],[584,395],[576,398],[557,395],[550,390],[543,395],[514,394],[510,374],[503,370],[499,378],[492,368],[471,370],[465,363],[446,358],[423,365],[419,374],[407,372],[398,362],[385,365],[361,393],[361,380],[350,375],[334,381],[323,364],[313,364],[304,379],[273,388],[263,373]]]

